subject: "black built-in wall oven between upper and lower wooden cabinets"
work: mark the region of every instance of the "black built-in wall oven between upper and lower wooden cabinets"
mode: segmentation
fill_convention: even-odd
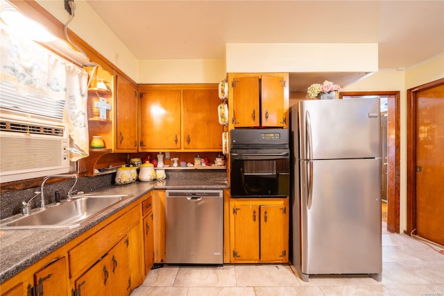
[[[289,130],[230,132],[231,197],[289,196]]]

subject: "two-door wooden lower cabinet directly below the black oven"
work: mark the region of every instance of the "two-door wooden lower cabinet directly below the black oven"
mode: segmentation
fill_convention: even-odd
[[[289,199],[230,200],[230,263],[287,263]]]

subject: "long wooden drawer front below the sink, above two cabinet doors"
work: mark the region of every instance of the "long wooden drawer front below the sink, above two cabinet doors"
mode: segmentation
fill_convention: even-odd
[[[137,206],[71,249],[68,252],[71,277],[76,277],[85,268],[89,268],[116,245],[139,222],[139,217],[140,210]]]

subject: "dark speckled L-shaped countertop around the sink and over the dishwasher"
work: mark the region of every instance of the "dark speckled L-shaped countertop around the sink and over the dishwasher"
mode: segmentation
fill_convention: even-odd
[[[223,189],[229,188],[228,181],[221,178],[175,178],[151,182],[130,183],[122,186],[104,186],[94,192],[96,195],[128,194],[133,197],[116,206],[108,208],[92,217],[85,224],[74,229],[0,229],[0,283],[6,281],[25,268],[33,265],[44,256],[55,251],[81,233],[91,229],[99,222],[117,213],[125,206],[153,189]]]

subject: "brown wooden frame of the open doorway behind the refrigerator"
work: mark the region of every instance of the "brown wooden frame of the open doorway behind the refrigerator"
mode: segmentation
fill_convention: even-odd
[[[391,96],[388,99],[388,114],[395,118],[395,129],[388,129],[388,138],[395,138],[395,145],[387,148],[387,231],[400,232],[400,92],[339,92],[339,98],[344,96]]]

